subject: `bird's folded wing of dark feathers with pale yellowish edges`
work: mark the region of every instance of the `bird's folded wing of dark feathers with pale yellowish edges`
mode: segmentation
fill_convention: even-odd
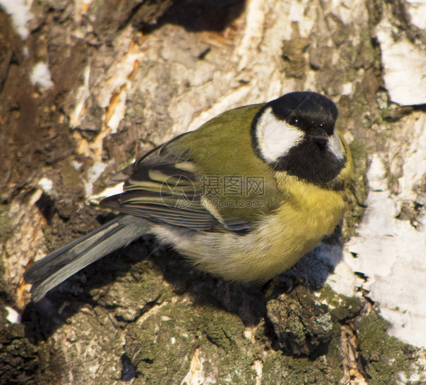
[[[197,167],[188,154],[173,152],[173,143],[163,144],[111,178],[124,182],[123,193],[110,196],[101,206],[200,231],[244,231],[251,223],[223,218],[214,205],[206,203]]]

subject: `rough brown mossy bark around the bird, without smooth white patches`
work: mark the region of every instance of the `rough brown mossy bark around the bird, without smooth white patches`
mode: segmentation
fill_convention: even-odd
[[[402,147],[423,133],[399,128],[424,121],[425,108],[389,99],[376,27],[390,20],[400,39],[424,49],[425,30],[407,7],[45,0],[33,2],[26,36],[0,8],[0,383],[425,381],[424,352],[386,334],[362,285],[364,296],[347,297],[306,271],[326,276],[334,265],[324,260],[241,286],[190,270],[147,236],[36,304],[22,280],[33,261],[106,221],[95,195],[136,156],[227,109],[290,91],[337,103],[360,200],[369,152],[394,154],[386,167],[396,193]],[[418,225],[422,202],[406,201],[400,220]],[[344,236],[321,250],[341,254],[361,215],[354,207]],[[22,323],[7,320],[7,306]]]

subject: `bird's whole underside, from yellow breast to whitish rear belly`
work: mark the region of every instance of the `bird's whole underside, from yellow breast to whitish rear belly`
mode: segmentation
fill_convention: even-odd
[[[334,231],[348,193],[285,178],[282,204],[247,235],[156,225],[155,234],[203,271],[237,282],[266,281],[289,269]]]

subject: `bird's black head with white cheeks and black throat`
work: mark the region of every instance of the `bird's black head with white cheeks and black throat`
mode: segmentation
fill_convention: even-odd
[[[252,123],[258,155],[277,171],[325,185],[345,165],[343,145],[334,129],[337,107],[314,92],[292,92],[272,100]]]

